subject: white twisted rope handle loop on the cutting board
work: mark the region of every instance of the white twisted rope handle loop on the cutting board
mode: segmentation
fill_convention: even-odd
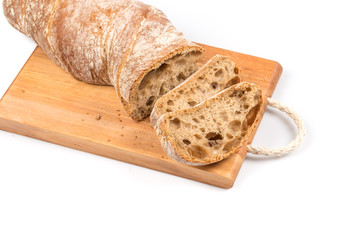
[[[268,98],[268,105],[277,108],[280,111],[286,113],[296,124],[298,129],[298,133],[296,138],[286,146],[280,148],[263,148],[263,147],[254,147],[251,145],[247,146],[248,153],[255,154],[255,155],[264,155],[264,156],[283,156],[285,154],[290,153],[295,148],[297,148],[305,137],[305,125],[303,120],[299,117],[299,115],[290,109],[289,107],[285,106],[284,104],[272,99]]]

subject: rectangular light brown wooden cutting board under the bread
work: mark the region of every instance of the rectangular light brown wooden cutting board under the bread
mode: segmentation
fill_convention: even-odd
[[[229,56],[242,69],[245,81],[260,85],[266,97],[272,95],[282,72],[280,64],[202,46],[206,53],[201,63],[215,54]],[[244,147],[222,162],[203,167],[169,159],[149,119],[133,121],[113,87],[74,79],[39,47],[0,100],[0,129],[222,188],[233,186],[246,155]]]

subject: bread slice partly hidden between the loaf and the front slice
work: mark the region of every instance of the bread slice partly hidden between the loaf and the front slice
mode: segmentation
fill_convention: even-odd
[[[156,125],[165,113],[191,108],[216,93],[241,81],[239,68],[227,57],[216,55],[185,82],[160,98],[150,122]]]

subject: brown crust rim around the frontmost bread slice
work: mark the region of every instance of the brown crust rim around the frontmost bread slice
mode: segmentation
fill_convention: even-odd
[[[168,125],[166,124],[166,122],[169,121],[169,119],[171,119],[172,117],[175,117],[176,114],[178,114],[179,112],[184,113],[184,115],[192,116],[193,112],[196,109],[203,108],[206,106],[206,104],[217,101],[219,98],[226,96],[228,92],[230,92],[234,89],[241,91],[242,89],[245,89],[247,87],[252,87],[260,93],[260,99],[258,100],[258,103],[257,103],[260,106],[263,101],[260,88],[254,84],[243,82],[238,85],[234,85],[228,89],[225,89],[224,91],[205,100],[203,103],[201,103],[193,108],[188,108],[188,109],[180,110],[178,112],[164,114],[163,116],[161,116],[160,119],[156,123],[155,129],[156,129],[158,137],[160,138],[161,145],[163,146],[163,149],[167,153],[167,155],[170,158],[172,158],[173,160],[178,161],[180,163],[184,163],[184,164],[192,165],[192,166],[202,166],[202,165],[208,165],[208,164],[212,164],[212,163],[221,161],[223,159],[230,157],[232,154],[238,152],[240,150],[240,148],[247,143],[247,139],[249,138],[249,136],[252,134],[252,132],[255,130],[256,126],[258,125],[258,123],[260,121],[259,112],[257,112],[254,122],[247,129],[246,135],[242,138],[241,141],[239,141],[239,143],[235,147],[233,147],[230,151],[227,151],[221,155],[216,156],[216,158],[205,159],[205,160],[196,158],[194,156],[189,156],[187,154],[186,155],[183,154],[183,149],[178,146],[178,144],[176,143],[176,140],[170,134],[170,130],[168,129],[168,127],[167,127]],[[251,99],[250,101],[253,101],[253,100]]]

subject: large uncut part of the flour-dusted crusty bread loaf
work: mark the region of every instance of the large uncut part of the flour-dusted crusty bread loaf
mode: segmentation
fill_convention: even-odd
[[[203,51],[160,10],[133,0],[4,0],[12,26],[78,80],[113,85],[135,120],[198,67]]]

